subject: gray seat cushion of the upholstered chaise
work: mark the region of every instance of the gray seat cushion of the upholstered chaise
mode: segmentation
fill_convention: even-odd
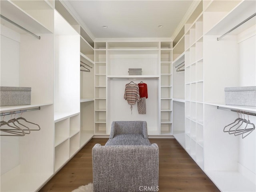
[[[148,139],[142,134],[118,134],[114,138],[109,139],[105,146],[110,145],[151,145]]]

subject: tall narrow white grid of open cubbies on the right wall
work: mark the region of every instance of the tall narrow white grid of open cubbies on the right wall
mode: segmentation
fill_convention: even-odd
[[[202,12],[202,3],[198,9]],[[203,16],[186,23],[185,34],[185,149],[204,169]],[[195,16],[195,15],[194,15]]]

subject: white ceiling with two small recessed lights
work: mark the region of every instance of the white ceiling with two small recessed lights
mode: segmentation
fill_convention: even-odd
[[[193,0],[68,0],[67,3],[94,38],[171,38],[192,2]],[[159,28],[158,25],[163,27]]]

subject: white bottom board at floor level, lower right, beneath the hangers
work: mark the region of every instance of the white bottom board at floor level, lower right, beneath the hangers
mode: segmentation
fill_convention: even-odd
[[[221,190],[227,192],[255,192],[256,185],[237,171],[205,171]]]

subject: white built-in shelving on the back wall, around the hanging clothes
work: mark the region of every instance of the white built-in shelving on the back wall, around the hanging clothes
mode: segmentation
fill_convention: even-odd
[[[160,134],[160,114],[166,124],[171,124],[172,85],[172,42],[126,41],[100,39],[95,42],[95,135],[110,134],[111,122],[115,120],[146,120],[151,135]],[[160,65],[161,63],[161,65]],[[142,75],[129,75],[129,68],[142,68]],[[164,71],[162,74],[160,72]],[[162,79],[162,85],[160,85]],[[146,99],[147,114],[139,115],[137,105],[132,111],[124,100],[125,84],[130,81],[148,85]],[[161,87],[160,87],[161,86]],[[160,94],[163,102],[168,103],[160,111]],[[166,115],[167,114],[167,115]],[[170,134],[171,126],[168,126]]]

